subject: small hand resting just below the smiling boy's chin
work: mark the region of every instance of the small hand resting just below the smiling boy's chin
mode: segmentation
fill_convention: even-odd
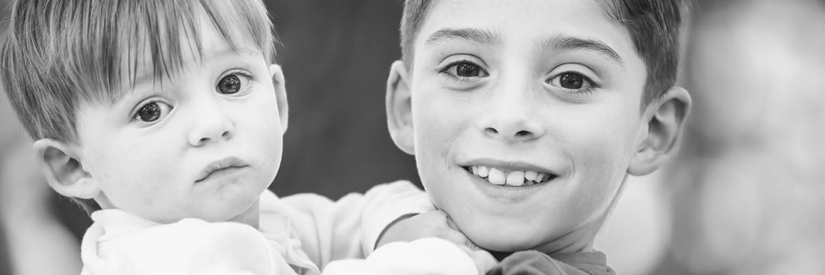
[[[468,247],[471,250],[479,248],[473,244],[464,233],[461,233],[452,220],[444,211],[427,211],[416,216],[411,216],[403,220],[398,220],[394,225],[384,231],[384,235],[378,241],[375,248],[395,241],[410,242],[416,239],[434,237],[446,239],[459,246]],[[472,256],[472,255],[470,255]]]

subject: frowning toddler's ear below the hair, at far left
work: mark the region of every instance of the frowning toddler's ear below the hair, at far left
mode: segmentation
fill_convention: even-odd
[[[74,145],[42,139],[32,146],[37,164],[54,191],[66,197],[83,199],[95,198],[101,192],[97,181],[83,170]]]

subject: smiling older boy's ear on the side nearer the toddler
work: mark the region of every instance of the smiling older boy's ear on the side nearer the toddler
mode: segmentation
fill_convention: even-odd
[[[398,149],[415,154],[412,94],[407,67],[401,60],[393,62],[387,78],[387,127]]]

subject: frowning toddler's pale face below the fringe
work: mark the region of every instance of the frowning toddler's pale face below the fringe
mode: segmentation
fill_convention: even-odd
[[[200,29],[202,63],[186,59],[169,78],[146,69],[113,104],[80,107],[79,159],[104,208],[158,222],[257,214],[281,162],[283,91],[257,46],[234,51],[210,22]]]

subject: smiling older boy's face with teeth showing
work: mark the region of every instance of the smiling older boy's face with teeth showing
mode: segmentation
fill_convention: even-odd
[[[592,1],[442,0],[414,43],[399,74],[436,206],[486,249],[592,241],[647,126],[625,28]]]

